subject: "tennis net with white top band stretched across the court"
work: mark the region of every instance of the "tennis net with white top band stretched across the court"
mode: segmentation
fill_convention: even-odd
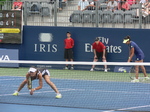
[[[150,80],[145,79],[139,70],[139,82],[130,79],[131,69],[144,65],[149,75],[150,63],[126,62],[64,62],[64,61],[1,61],[0,103],[57,106],[69,108],[87,108],[99,110],[149,111]],[[5,64],[5,67],[3,67]],[[9,64],[18,64],[9,68]],[[68,69],[66,69],[68,64]],[[71,68],[74,65],[74,69]],[[96,65],[94,71],[90,71]],[[107,72],[104,72],[107,65]],[[55,98],[55,92],[43,79],[43,87],[33,95],[25,85],[18,96],[13,92],[25,80],[29,67],[46,68],[50,71],[50,80],[62,94]],[[33,88],[39,86],[39,80],[32,81]]]

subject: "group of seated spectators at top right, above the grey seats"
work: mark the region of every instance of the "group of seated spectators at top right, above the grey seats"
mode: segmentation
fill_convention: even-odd
[[[105,10],[110,10],[112,12],[115,10],[131,10],[133,4],[142,3],[142,15],[146,17],[150,14],[149,0],[80,0],[78,3],[78,10],[95,10],[96,3],[99,9],[101,9],[101,4],[103,4],[106,5]]]

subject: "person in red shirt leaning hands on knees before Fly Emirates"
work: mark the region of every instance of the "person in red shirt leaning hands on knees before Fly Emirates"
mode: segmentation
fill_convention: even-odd
[[[106,62],[106,47],[102,42],[100,42],[99,38],[96,37],[95,42],[92,44],[93,52],[94,52],[94,60],[93,62],[97,62],[98,59],[102,59],[103,62]],[[94,71],[95,65],[92,66],[90,71]],[[107,65],[104,65],[104,72],[107,72]]]

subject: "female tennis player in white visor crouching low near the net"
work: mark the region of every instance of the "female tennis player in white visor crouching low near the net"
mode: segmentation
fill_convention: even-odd
[[[19,88],[17,91],[15,91],[13,93],[14,96],[19,95],[19,91],[29,82],[28,82],[28,78],[31,77],[31,80],[35,80],[38,79],[39,80],[39,86],[31,89],[30,90],[30,94],[32,95],[34,91],[39,90],[42,88],[43,86],[43,80],[42,77],[44,78],[44,80],[46,81],[46,83],[48,85],[50,85],[50,87],[56,92],[56,98],[61,98],[62,95],[59,93],[58,89],[56,88],[55,84],[53,82],[50,81],[50,72],[47,69],[43,69],[43,68],[35,68],[35,67],[31,67],[28,71],[28,73],[26,74],[26,79],[20,84]],[[29,89],[29,87],[28,87]]]

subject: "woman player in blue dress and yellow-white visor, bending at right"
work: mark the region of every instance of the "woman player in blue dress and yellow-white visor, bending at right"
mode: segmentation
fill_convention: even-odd
[[[135,42],[131,41],[130,36],[126,36],[123,39],[123,43],[127,44],[129,46],[129,49],[130,49],[128,62],[132,61],[134,54],[136,55],[136,61],[135,62],[143,62],[144,53]],[[142,72],[144,73],[145,79],[149,79],[149,77],[146,74],[145,67],[141,65],[140,68],[142,69]],[[132,82],[139,82],[138,76],[139,76],[139,66],[137,65],[137,66],[135,66],[135,79],[132,80]]]

